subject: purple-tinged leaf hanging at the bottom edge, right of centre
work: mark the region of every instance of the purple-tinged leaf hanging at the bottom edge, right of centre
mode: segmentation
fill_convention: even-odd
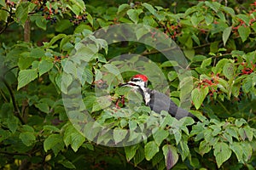
[[[166,159],[166,168],[171,169],[178,160],[177,149],[170,144],[166,144],[163,146],[162,150]]]

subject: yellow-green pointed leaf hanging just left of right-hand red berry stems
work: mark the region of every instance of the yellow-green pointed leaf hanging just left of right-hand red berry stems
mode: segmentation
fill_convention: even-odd
[[[195,109],[199,109],[201,107],[202,102],[207,97],[207,94],[209,92],[209,88],[195,88],[192,93],[192,101],[195,105]]]

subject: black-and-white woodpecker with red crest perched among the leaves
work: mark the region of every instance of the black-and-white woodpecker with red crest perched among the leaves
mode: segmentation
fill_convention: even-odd
[[[177,120],[190,116],[197,121],[195,117],[189,111],[185,111],[182,108],[177,107],[177,105],[170,99],[166,94],[162,94],[156,90],[151,90],[148,88],[148,77],[145,75],[136,75],[131,77],[129,82],[120,85],[121,87],[131,87],[137,92],[142,94],[143,102],[145,105],[149,106],[150,109],[156,113],[160,111],[167,111],[171,116],[177,118]]]

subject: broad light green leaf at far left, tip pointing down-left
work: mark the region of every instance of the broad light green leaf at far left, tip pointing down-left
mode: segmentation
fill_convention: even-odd
[[[26,84],[28,84],[29,82],[32,82],[37,77],[38,77],[38,70],[37,69],[20,71],[19,76],[18,76],[18,88],[17,88],[17,90],[19,90],[20,88],[23,88],[24,86],[26,86]]]

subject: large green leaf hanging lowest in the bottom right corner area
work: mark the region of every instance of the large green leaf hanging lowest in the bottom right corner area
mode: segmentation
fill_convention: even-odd
[[[232,151],[230,150],[229,145],[224,142],[218,142],[214,145],[213,154],[216,158],[218,168],[224,163],[224,161],[227,161],[230,158],[231,153]]]

